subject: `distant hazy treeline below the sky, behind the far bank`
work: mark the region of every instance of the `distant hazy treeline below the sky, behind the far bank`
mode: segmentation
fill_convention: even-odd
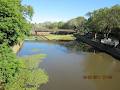
[[[76,27],[79,27],[83,25],[86,22],[86,19],[84,17],[77,17],[74,19],[71,19],[67,22],[45,22],[45,23],[39,23],[39,24],[32,24],[33,30],[39,30],[39,29],[75,29]]]

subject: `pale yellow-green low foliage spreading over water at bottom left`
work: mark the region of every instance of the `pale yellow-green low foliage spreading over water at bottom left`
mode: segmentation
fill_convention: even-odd
[[[6,86],[6,90],[37,90],[47,83],[47,74],[39,68],[40,59],[46,55],[25,56],[20,59],[21,69],[14,82]]]

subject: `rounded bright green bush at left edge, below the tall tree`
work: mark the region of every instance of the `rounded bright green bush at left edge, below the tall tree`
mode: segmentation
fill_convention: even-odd
[[[6,45],[0,46],[0,82],[9,84],[16,78],[20,69],[20,63],[17,61],[15,54]]]

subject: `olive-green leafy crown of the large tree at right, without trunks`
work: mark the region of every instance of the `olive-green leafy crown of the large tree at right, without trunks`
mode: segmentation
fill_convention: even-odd
[[[87,22],[89,29],[95,32],[109,33],[115,28],[120,28],[120,5],[111,8],[102,8],[89,13]]]

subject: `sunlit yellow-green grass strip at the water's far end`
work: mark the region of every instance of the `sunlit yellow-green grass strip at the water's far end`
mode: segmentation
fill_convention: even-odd
[[[29,36],[29,37],[26,37],[26,40],[70,41],[70,40],[75,40],[75,37],[73,35],[49,34],[45,36]]]

